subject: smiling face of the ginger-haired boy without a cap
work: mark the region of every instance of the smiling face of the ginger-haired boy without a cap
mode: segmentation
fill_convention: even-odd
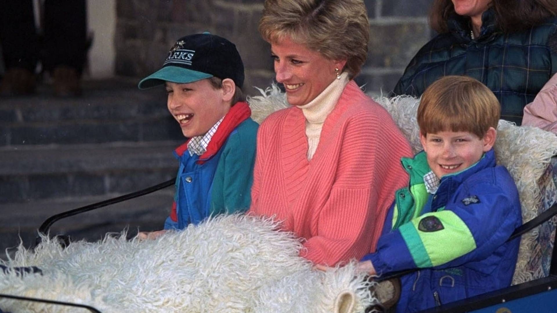
[[[492,147],[486,140],[487,136],[478,138],[467,131],[439,131],[436,134],[421,135],[420,139],[429,167],[441,178],[465,170],[478,162],[483,153]]]

